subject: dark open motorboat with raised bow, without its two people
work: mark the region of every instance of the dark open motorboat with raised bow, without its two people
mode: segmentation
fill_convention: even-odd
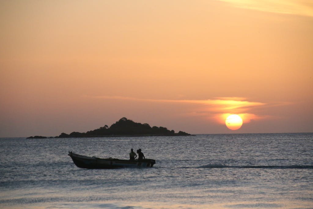
[[[79,168],[88,169],[115,169],[115,168],[143,168],[153,167],[156,163],[154,159],[115,159],[115,158],[97,158],[95,156],[88,157],[80,154],[75,154],[69,151],[69,156],[74,164]]]

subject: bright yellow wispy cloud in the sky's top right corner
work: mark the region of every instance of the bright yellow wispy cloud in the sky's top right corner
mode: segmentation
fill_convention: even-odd
[[[313,17],[312,0],[220,0],[235,7]]]

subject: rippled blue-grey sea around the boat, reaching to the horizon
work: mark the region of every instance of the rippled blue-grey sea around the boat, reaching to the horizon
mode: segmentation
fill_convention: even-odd
[[[0,208],[313,208],[313,133],[0,139]],[[67,155],[153,168],[88,170]]]

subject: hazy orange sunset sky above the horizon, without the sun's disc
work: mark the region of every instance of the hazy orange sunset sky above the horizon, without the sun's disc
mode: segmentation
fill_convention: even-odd
[[[313,132],[311,0],[0,1],[0,27],[0,137]]]

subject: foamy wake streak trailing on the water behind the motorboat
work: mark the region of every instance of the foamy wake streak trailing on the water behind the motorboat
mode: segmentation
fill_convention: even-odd
[[[198,168],[263,168],[263,169],[313,169],[313,165],[223,165],[208,164]]]

